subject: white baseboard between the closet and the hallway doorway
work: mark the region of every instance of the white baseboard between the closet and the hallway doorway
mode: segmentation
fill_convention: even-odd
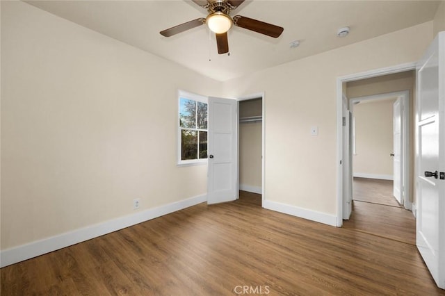
[[[289,204],[282,204],[280,202],[270,202],[265,200],[263,207],[268,210],[277,211],[280,213],[293,215],[296,217],[320,222],[330,226],[337,227],[337,217],[326,213],[307,210],[306,208],[298,208],[298,206],[290,206]]]

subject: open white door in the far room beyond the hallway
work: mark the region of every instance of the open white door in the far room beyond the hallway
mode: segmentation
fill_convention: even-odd
[[[399,97],[394,102],[393,107],[393,165],[394,165],[394,190],[393,194],[396,197],[397,202],[403,205],[401,188],[402,188],[402,162],[401,162],[401,151],[402,151],[402,104],[401,98]]]

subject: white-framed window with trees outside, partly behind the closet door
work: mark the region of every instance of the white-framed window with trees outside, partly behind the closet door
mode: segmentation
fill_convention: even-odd
[[[207,163],[207,97],[179,91],[178,164]]]

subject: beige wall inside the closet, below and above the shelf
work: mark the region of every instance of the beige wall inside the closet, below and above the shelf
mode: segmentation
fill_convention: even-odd
[[[239,117],[261,116],[261,99],[239,102]],[[239,125],[239,184],[243,190],[261,190],[261,122]]]

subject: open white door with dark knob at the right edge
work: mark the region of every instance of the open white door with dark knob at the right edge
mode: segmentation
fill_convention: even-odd
[[[416,245],[445,288],[445,32],[417,65]]]

